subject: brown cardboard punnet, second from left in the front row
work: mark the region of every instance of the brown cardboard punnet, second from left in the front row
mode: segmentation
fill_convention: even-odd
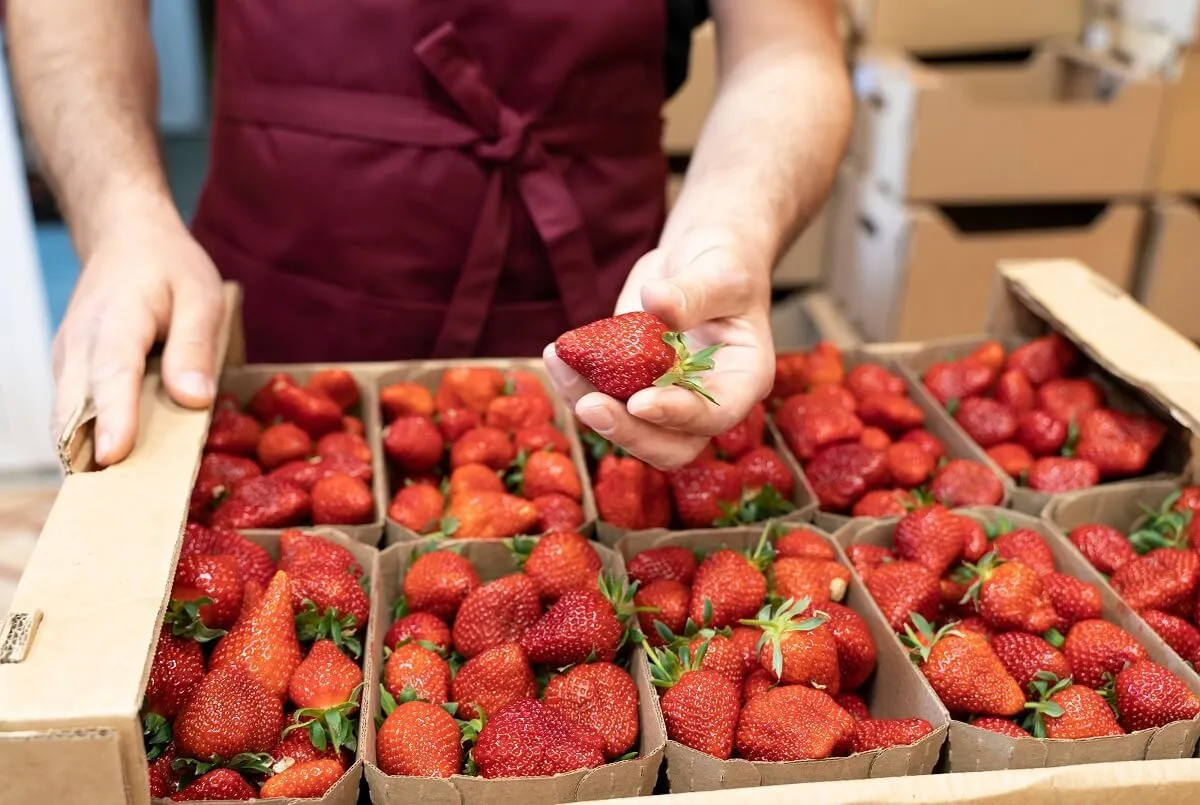
[[[392,601],[400,595],[401,584],[413,552],[420,543],[392,545],[379,554],[379,581],[372,619],[383,623],[389,618]],[[484,582],[518,572],[516,561],[499,540],[440,540],[439,547],[461,549]],[[604,546],[595,546],[606,572],[624,578],[625,565],[620,555]],[[383,669],[383,630],[373,632],[370,647],[376,668]],[[584,769],[553,777],[518,777],[484,780],[455,775],[449,780],[400,777],[384,774],[376,764],[374,715],[379,714],[378,698],[370,719],[364,719],[364,740],[367,786],[374,805],[408,805],[408,803],[440,803],[446,805],[505,805],[520,801],[528,805],[554,805],[581,799],[612,799],[648,795],[654,791],[662,763],[666,727],[658,711],[658,695],[650,685],[649,666],[641,649],[630,655],[630,673],[640,697],[638,756],[629,761],[607,763],[596,769]],[[378,673],[373,680],[378,680]]]

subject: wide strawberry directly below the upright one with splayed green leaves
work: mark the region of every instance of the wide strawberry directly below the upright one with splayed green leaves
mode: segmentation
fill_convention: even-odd
[[[830,757],[854,735],[854,719],[823,691],[785,685],[746,702],[738,720],[738,757],[786,762]]]

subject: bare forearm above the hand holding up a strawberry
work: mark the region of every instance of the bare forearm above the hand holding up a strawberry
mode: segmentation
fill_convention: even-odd
[[[664,246],[690,232],[719,232],[733,241],[748,268],[766,274],[821,209],[845,152],[852,114],[828,5],[714,2],[720,90]]]

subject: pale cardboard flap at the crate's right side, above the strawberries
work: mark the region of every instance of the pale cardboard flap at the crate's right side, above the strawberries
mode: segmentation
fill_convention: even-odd
[[[1200,432],[1200,349],[1194,343],[1078,260],[1004,262],[1000,276],[994,332],[1015,335],[1022,317],[1016,302]]]

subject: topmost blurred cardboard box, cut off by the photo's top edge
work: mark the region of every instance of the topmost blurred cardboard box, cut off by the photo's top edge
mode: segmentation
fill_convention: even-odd
[[[917,53],[966,53],[1078,36],[1085,0],[846,0],[858,38]]]

